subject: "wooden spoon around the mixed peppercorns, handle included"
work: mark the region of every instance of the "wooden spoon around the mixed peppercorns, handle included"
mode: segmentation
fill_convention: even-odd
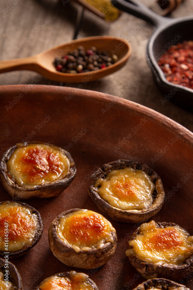
[[[95,46],[99,50],[106,50],[111,55],[116,54],[118,60],[115,64],[100,70],[88,73],[60,73],[54,67],[53,61],[56,57],[67,55],[70,50],[84,46],[85,50]],[[0,61],[0,73],[12,70],[33,70],[40,73],[47,79],[78,83],[94,81],[119,70],[126,63],[131,53],[130,44],[123,38],[113,36],[93,36],[74,39],[65,44],[60,44],[51,49],[45,50],[37,55],[20,59],[9,59]]]

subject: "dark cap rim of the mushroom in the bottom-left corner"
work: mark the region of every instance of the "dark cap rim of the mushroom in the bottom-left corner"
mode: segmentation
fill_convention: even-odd
[[[5,255],[6,254],[4,254],[4,256]],[[8,272],[5,272],[5,270],[8,270]],[[13,286],[16,287],[16,290],[23,290],[21,276],[19,272],[17,271],[16,267],[14,266],[14,264],[0,258],[0,271],[3,274],[8,273],[8,281],[13,283]]]

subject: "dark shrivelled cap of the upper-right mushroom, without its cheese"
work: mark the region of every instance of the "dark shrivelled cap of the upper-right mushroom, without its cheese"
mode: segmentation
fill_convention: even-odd
[[[94,187],[94,184],[98,178],[105,178],[106,175],[108,175],[111,171],[126,167],[145,171],[151,177],[151,181],[155,184],[155,190],[152,194],[153,202],[148,207],[148,209],[139,211],[117,209],[102,199],[98,193],[98,188]],[[112,218],[112,220],[129,223],[145,222],[152,216],[156,215],[163,205],[165,192],[163,190],[161,178],[146,164],[120,159],[104,164],[101,168],[98,168],[98,170],[95,171],[91,177],[94,180],[94,183],[89,188],[89,195],[96,206],[98,206],[101,211],[107,213]]]

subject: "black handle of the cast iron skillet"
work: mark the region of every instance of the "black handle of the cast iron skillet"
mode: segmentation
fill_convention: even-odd
[[[156,27],[171,22],[171,19],[158,15],[138,0],[112,0],[112,4],[119,10],[141,18]]]

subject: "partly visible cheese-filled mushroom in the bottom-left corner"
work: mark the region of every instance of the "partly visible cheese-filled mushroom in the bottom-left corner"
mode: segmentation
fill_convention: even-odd
[[[23,290],[22,280],[14,264],[0,258],[0,289]]]

